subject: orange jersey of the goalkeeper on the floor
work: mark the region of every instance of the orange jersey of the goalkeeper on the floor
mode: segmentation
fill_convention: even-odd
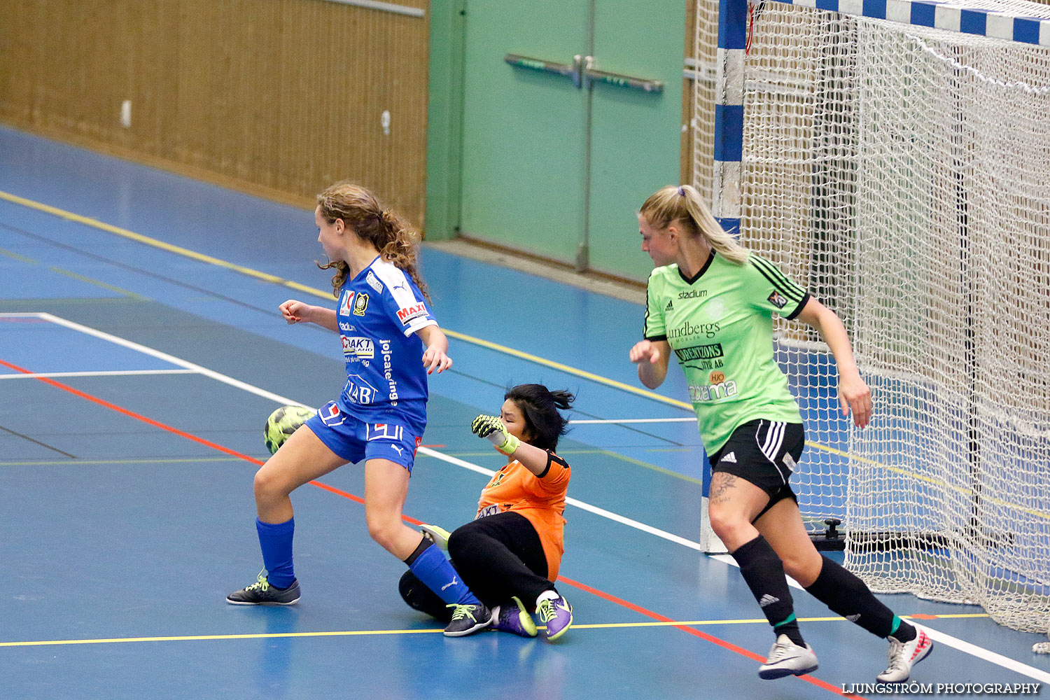
[[[520,513],[540,535],[547,557],[547,578],[558,578],[558,569],[565,552],[565,491],[569,488],[572,469],[553,452],[547,451],[547,468],[537,476],[518,460],[512,460],[496,472],[481,490],[478,515]]]

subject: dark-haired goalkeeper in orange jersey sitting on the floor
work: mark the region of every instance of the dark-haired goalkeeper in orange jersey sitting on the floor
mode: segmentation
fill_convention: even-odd
[[[452,534],[423,526],[436,542],[447,543],[463,582],[492,610],[490,630],[534,637],[531,610],[550,641],[572,624],[572,606],[552,582],[564,552],[565,493],[571,475],[569,465],[554,453],[568,423],[559,409],[567,409],[572,401],[568,391],[550,391],[542,384],[508,390],[499,417],[479,416],[470,425],[475,434],[509,458],[482,489],[477,516]],[[464,614],[446,607],[411,571],[401,577],[399,589],[408,606],[443,622]]]

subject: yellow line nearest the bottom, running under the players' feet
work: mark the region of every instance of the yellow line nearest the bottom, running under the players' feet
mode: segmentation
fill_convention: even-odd
[[[902,615],[910,618],[910,615]],[[925,619],[926,616],[921,616]],[[960,615],[936,615],[937,619],[948,617],[988,617],[987,613],[968,613]],[[800,622],[834,622],[845,621],[842,617],[800,617]],[[737,620],[684,620],[671,622],[607,622],[595,624],[573,624],[573,630],[608,630],[613,628],[659,628],[659,627],[705,627],[715,624],[769,624],[764,617]],[[544,629],[542,625],[539,629]],[[273,632],[265,634],[211,634],[185,635],[170,637],[113,637],[110,639],[49,639],[38,641],[0,641],[0,646],[62,646],[71,644],[124,644],[144,641],[222,641],[229,639],[281,639],[292,637],[368,637],[374,635],[397,634],[440,634],[441,629],[433,630],[352,630],[344,632]]]

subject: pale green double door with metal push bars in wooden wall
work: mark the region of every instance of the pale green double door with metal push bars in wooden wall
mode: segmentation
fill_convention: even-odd
[[[678,181],[685,3],[467,0],[464,33],[460,231],[645,279],[635,212]]]

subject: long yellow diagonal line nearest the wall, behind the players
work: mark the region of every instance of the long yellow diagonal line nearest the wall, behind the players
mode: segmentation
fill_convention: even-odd
[[[183,255],[185,257],[197,260],[200,262],[207,262],[209,264],[214,264],[219,268],[225,268],[226,270],[232,270],[238,272],[243,275],[248,275],[249,277],[254,277],[255,279],[260,279],[266,282],[271,282],[273,284],[280,284],[281,287],[287,287],[299,292],[304,292],[307,294],[312,294],[314,296],[321,297],[323,299],[332,300],[333,296],[331,292],[324,292],[313,287],[308,287],[307,284],[300,284],[299,282],[293,282],[292,280],[278,277],[276,275],[271,275],[265,272],[259,272],[258,270],[253,270],[251,268],[246,268],[244,266],[234,264],[226,260],[222,260],[210,255],[205,255],[203,253],[197,253],[188,248],[182,248],[181,246],[173,246],[171,243],[164,242],[156,238],[151,238],[149,236],[144,236],[141,233],[135,233],[134,231],[128,231],[127,229],[122,229],[118,226],[112,226],[99,219],[91,218],[89,216],[81,216],[80,214],[75,214],[64,209],[59,209],[58,207],[51,207],[39,201],[34,201],[33,199],[26,199],[25,197],[20,197],[17,194],[10,194],[9,192],[4,192],[0,190],[0,199],[6,199],[13,204],[21,205],[29,209],[36,209],[37,211],[42,211],[55,216],[60,216],[64,219],[76,221],[78,224],[83,224],[94,229],[106,231],[108,233],[116,234],[118,236],[123,236],[124,238],[129,238],[140,243],[145,243],[147,246],[152,246],[153,248],[159,248],[161,250],[167,251],[169,253],[175,253],[176,255]],[[645,397],[647,399],[652,399],[653,401],[659,401],[660,403],[666,403],[671,406],[676,406],[678,408],[685,408],[686,410],[693,410],[692,404],[686,403],[685,401],[678,401],[677,399],[671,399],[669,397],[660,396],[659,394],[654,394],[653,391],[647,391],[646,389],[639,389],[636,386],[631,386],[630,384],[625,384],[623,382],[617,382],[614,379],[608,379],[607,377],[602,377],[584,369],[578,369],[576,367],[569,366],[567,364],[562,364],[561,362],[554,362],[553,360],[548,360],[546,358],[540,357],[538,355],[532,355],[530,353],[525,353],[512,347],[507,347],[506,345],[500,345],[499,343],[494,343],[488,340],[482,340],[481,338],[475,338],[474,336],[468,336],[464,333],[457,333],[456,331],[449,331],[447,328],[442,328],[445,335],[449,338],[456,338],[458,340],[463,340],[465,342],[479,345],[481,347],[486,347],[488,349],[494,349],[504,355],[510,355],[511,357],[517,357],[523,360],[528,360],[529,362],[536,362],[537,364],[542,364],[544,366],[550,367],[552,369],[559,369],[569,375],[574,375],[583,379],[589,379],[593,382],[600,384],[605,384],[607,386],[612,386],[624,391],[629,391],[637,396]]]

